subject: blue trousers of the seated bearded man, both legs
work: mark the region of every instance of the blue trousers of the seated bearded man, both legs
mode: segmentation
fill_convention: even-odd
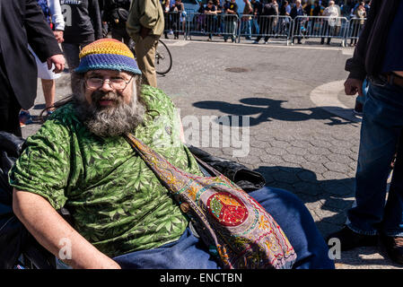
[[[328,246],[313,222],[311,213],[293,194],[263,187],[251,192],[285,231],[297,254],[293,268],[333,269]],[[187,229],[178,241],[161,248],[141,250],[113,258],[122,268],[219,269],[206,246]]]

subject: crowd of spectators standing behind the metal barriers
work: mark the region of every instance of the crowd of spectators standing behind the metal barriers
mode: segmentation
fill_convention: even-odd
[[[180,0],[176,0],[170,7],[165,9],[165,38],[168,34],[174,34],[174,39],[179,38],[180,33],[185,32],[185,25],[190,25],[191,32],[204,33],[211,40],[213,35],[223,36],[233,33],[233,15],[240,19],[241,35],[245,39],[252,39],[257,35],[253,43],[258,44],[264,37],[264,43],[270,38],[268,35],[285,35],[291,29],[291,21],[297,16],[294,25],[294,34],[298,43],[301,43],[302,34],[337,35],[341,31],[341,20],[337,17],[346,17],[353,20],[349,36],[351,46],[355,46],[360,31],[364,27],[364,19],[370,9],[370,1],[308,1],[308,0],[243,0],[243,11],[239,10],[238,4],[231,0],[208,0],[199,1],[197,11],[186,11]],[[232,5],[233,9],[228,10]],[[178,9],[180,7],[180,9]],[[188,20],[187,20],[188,15]],[[280,17],[278,17],[280,16]],[[291,17],[292,20],[290,20]],[[329,20],[307,19],[301,16],[325,16]],[[186,23],[188,21],[188,23]],[[238,24],[237,24],[238,25]],[[328,38],[330,44],[330,38]],[[324,44],[324,38],[321,40]]]

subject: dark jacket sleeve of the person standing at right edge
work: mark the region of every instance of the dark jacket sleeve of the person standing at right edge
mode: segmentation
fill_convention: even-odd
[[[400,0],[372,0],[354,56],[346,61],[346,71],[350,72],[348,78],[364,80],[366,75],[376,76],[381,73],[390,25],[399,2]]]

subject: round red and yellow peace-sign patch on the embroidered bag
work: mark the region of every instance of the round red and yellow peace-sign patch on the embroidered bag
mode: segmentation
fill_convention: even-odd
[[[241,200],[228,192],[219,192],[207,199],[207,209],[225,226],[237,226],[248,217],[248,210]]]

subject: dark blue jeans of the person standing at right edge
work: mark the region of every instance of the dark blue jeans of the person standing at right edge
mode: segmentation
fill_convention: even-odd
[[[390,188],[390,163],[403,127],[403,88],[370,83],[364,105],[358,166],[355,175],[356,206],[348,210],[347,226],[357,233],[403,236],[403,190]],[[402,177],[395,170],[391,187]]]

